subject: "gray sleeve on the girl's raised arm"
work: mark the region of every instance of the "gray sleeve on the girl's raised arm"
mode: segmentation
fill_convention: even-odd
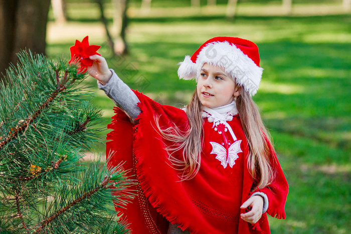
[[[103,85],[99,81],[97,86],[105,91],[107,97],[111,98],[117,107],[121,108],[135,123],[135,118],[140,114],[141,110],[137,106],[140,102],[134,92],[110,69],[112,77],[107,84]]]

